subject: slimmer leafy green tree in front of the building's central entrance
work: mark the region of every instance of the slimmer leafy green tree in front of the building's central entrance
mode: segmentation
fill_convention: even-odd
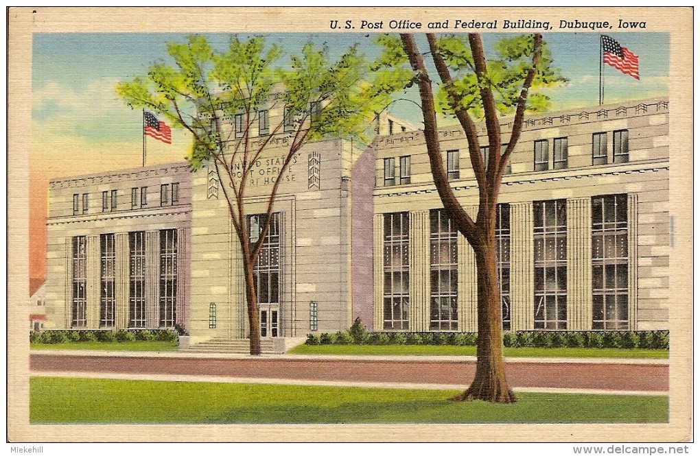
[[[223,52],[204,36],[189,36],[186,43],[168,43],[167,52],[174,65],[155,63],[147,76],[118,83],[117,92],[132,108],[160,113],[190,133],[187,159],[193,170],[205,164],[216,169],[243,257],[251,355],[259,355],[253,269],[282,179],[269,190],[267,216],[260,218],[260,234],[253,242],[248,238],[245,176],[276,137],[285,136],[288,144],[278,176],[309,141],[364,138],[373,113],[388,102],[388,86],[367,81],[367,65],[356,46],[331,62],[328,48],[309,42],[286,65],[278,64],[283,54],[279,45],[266,45],[260,36],[245,41],[232,36]],[[283,115],[269,124],[269,134],[253,141],[251,127],[269,122],[269,113],[281,108]]]

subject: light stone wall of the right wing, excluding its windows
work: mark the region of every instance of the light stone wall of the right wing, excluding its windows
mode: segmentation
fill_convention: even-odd
[[[485,135],[485,129],[481,133]],[[503,124],[506,141],[508,124]],[[629,131],[629,162],[613,163],[612,132]],[[592,134],[608,132],[608,164],[592,165]],[[568,167],[552,169],[554,138],[568,138]],[[475,216],[477,183],[468,158],[466,139],[459,127],[440,131],[440,148],[460,150],[461,178],[451,185],[462,206]],[[533,171],[537,139],[549,140],[549,170]],[[486,143],[486,136],[479,138]],[[440,208],[428,164],[422,132],[409,132],[377,138],[374,213],[407,211],[410,214]],[[411,180],[407,185],[384,186],[384,158],[411,156]],[[503,178],[499,202],[510,203],[511,306],[512,330],[533,329],[533,201],[566,199],[568,264],[568,329],[590,329],[591,303],[591,197],[605,194],[628,195],[629,219],[629,307],[631,329],[668,329],[668,101],[652,99],[579,109],[566,113],[529,117],[512,155],[512,173]],[[397,165],[398,166],[398,165]],[[398,180],[397,180],[398,181]],[[381,226],[381,225],[380,225]],[[417,229],[417,228],[416,228]],[[411,227],[411,232],[416,230]],[[381,245],[381,229],[375,226],[375,255]],[[409,245],[423,248],[412,242]],[[411,252],[419,257],[421,252]],[[475,282],[473,253],[468,244],[458,242],[458,315],[461,331],[475,331]],[[381,259],[375,261],[375,268]],[[429,288],[421,268],[410,273],[411,287]],[[428,279],[429,280],[429,279]],[[381,285],[380,278],[375,287]],[[381,299],[381,290],[375,299]],[[416,299],[424,299],[416,296]],[[425,302],[411,303],[422,308]],[[375,305],[375,311],[381,306]],[[412,315],[412,327],[423,321],[423,313]],[[374,315],[374,329],[381,329],[381,315]]]

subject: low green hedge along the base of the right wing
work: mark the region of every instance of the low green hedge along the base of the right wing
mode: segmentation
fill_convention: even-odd
[[[357,334],[357,333],[356,333]],[[476,345],[477,334],[460,332],[352,332],[309,334],[307,345]],[[505,347],[646,348],[668,350],[668,331],[517,331],[503,333]]]

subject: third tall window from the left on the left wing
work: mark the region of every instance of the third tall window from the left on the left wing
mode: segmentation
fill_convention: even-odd
[[[146,327],[146,232],[129,233],[129,327]]]

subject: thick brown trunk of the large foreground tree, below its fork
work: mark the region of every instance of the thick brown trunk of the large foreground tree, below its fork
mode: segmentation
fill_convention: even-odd
[[[477,370],[468,389],[453,401],[481,400],[509,404],[517,399],[505,380],[503,336],[500,316],[500,290],[496,270],[496,210],[486,215],[488,221],[477,225],[482,243],[472,245],[477,263]]]

